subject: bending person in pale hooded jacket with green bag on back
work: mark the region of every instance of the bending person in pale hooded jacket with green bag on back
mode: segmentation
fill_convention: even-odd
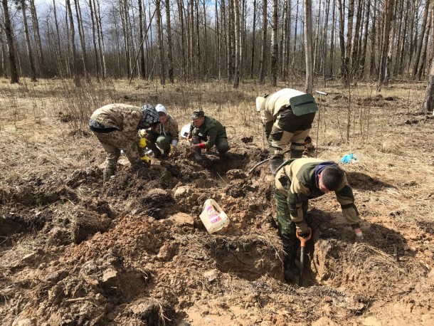
[[[292,159],[301,158],[315,112],[318,110],[312,94],[292,88],[284,88],[271,95],[264,94],[256,98],[256,110],[260,112],[265,136],[270,151],[270,169],[283,163],[283,147],[291,143]]]

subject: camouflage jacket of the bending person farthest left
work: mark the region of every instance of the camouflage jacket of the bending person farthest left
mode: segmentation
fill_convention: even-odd
[[[136,132],[139,130],[139,122],[143,115],[140,107],[134,105],[115,103],[104,105],[93,112],[90,120],[95,120],[100,125],[116,128],[122,132]]]

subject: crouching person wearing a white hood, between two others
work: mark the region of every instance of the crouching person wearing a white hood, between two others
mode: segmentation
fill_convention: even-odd
[[[147,130],[147,140],[149,140],[147,147],[152,149],[154,157],[158,159],[162,156],[167,157],[171,149],[176,147],[179,140],[179,129],[178,122],[167,113],[166,107],[157,104],[155,110],[159,114],[160,122]]]

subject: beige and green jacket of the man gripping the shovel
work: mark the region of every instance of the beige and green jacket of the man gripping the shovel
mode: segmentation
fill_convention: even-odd
[[[324,192],[318,188],[318,180],[315,180],[314,169],[318,164],[326,162],[323,159],[294,159],[280,169],[275,177],[275,188],[281,194],[287,196],[287,204],[290,209],[291,219],[294,222],[303,221],[303,204],[309,199],[322,196]],[[287,182],[287,179],[290,182]],[[359,211],[354,205],[354,195],[346,176],[336,191],[337,201],[341,204],[342,214],[350,224],[360,222]]]

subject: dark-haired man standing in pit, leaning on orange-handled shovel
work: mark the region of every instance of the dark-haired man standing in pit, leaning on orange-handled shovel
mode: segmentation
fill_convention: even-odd
[[[296,273],[295,256],[300,236],[309,235],[306,223],[309,199],[334,191],[341,204],[342,214],[354,233],[361,240],[359,212],[354,205],[354,195],[344,170],[333,161],[323,159],[290,159],[277,170],[274,184],[277,224],[286,253],[284,261],[285,280],[291,281]]]

